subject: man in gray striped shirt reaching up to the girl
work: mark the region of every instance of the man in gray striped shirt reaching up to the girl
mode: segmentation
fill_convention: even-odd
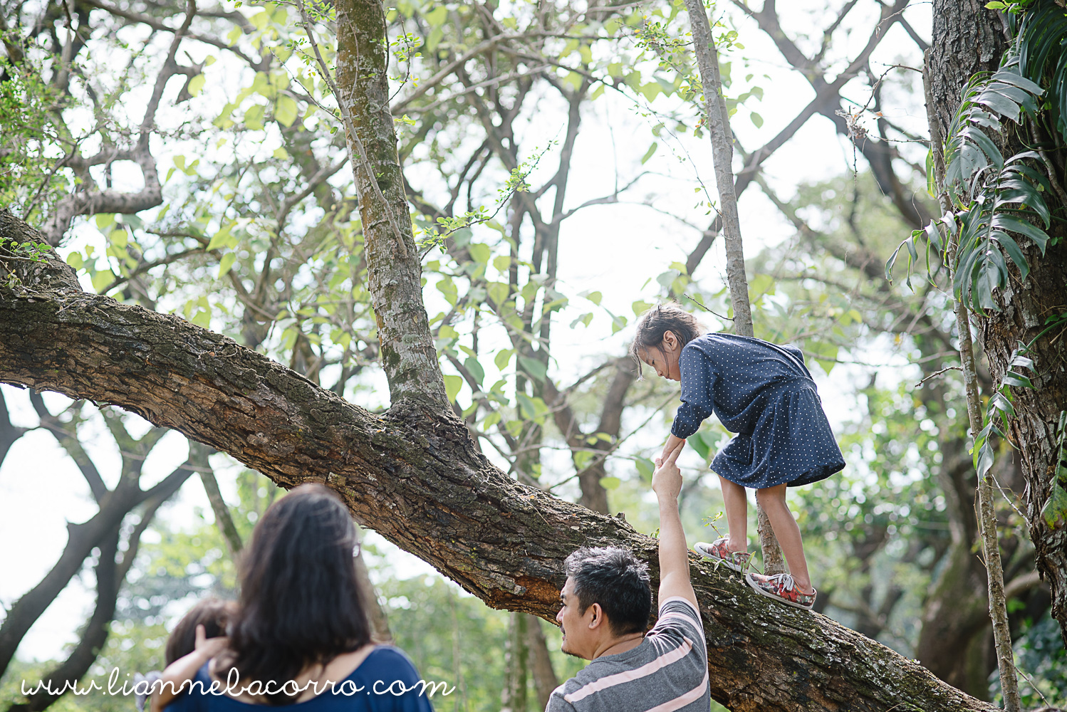
[[[644,632],[652,592],[648,567],[632,553],[583,547],[568,556],[556,615],[561,649],[592,662],[552,693],[545,712],[707,712],[711,707],[707,647],[678,514],[680,452],[656,460],[652,475],[659,500],[659,619]]]

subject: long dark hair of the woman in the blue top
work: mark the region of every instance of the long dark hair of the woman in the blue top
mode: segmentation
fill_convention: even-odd
[[[242,559],[240,612],[221,669],[236,668],[241,684],[273,680],[280,690],[304,668],[370,643],[355,546],[352,517],[327,487],[301,485],[274,502]],[[281,693],[266,699],[294,701]]]

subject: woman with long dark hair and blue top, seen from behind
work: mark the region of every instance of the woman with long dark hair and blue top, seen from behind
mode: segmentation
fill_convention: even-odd
[[[168,712],[264,706],[432,712],[407,656],[370,641],[355,547],[348,509],[322,485],[301,485],[272,504],[244,553],[240,611],[228,642],[209,645],[201,634],[197,649],[168,667],[164,682],[193,679]]]

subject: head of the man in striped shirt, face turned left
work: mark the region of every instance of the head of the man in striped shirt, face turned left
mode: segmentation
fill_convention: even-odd
[[[563,652],[591,660],[616,640],[644,631],[652,612],[648,566],[625,549],[583,547],[564,567],[556,615]]]

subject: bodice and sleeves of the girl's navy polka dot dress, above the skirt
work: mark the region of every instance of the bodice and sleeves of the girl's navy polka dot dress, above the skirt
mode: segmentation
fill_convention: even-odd
[[[803,353],[762,339],[705,334],[679,356],[682,406],[670,432],[687,438],[714,410],[731,433],[751,433],[770,397],[815,389]]]

